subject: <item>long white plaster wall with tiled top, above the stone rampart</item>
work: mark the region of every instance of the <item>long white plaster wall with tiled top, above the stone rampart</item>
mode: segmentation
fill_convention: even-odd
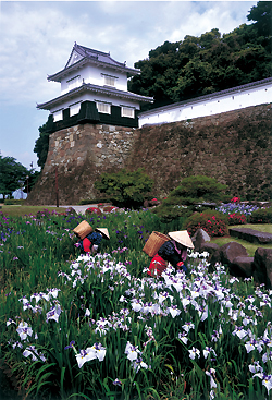
[[[270,102],[272,102],[272,78],[267,78],[141,112],[139,128],[145,124],[184,121]]]

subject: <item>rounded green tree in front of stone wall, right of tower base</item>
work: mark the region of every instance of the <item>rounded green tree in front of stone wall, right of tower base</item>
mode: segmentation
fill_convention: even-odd
[[[152,190],[153,180],[143,168],[136,171],[122,169],[116,173],[102,173],[100,181],[95,182],[95,187],[106,193],[113,205],[126,208],[143,206],[145,195]]]

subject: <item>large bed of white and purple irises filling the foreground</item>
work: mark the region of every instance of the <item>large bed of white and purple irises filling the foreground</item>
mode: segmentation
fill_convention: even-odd
[[[82,219],[0,214],[1,356],[25,396],[271,396],[271,291],[223,266],[209,274],[207,253],[189,254],[188,276],[148,278],[146,231],[175,230],[149,211],[92,214],[111,240],[79,255]]]

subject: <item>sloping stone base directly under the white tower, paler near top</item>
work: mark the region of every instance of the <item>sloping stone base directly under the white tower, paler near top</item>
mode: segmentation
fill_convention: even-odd
[[[50,135],[47,161],[28,204],[55,204],[55,170],[62,205],[96,197],[94,182],[101,172],[124,168],[135,129],[82,124]]]

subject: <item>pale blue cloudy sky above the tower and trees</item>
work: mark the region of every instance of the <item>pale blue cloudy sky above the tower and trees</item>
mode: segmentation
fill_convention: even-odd
[[[257,1],[1,1],[0,154],[26,168],[48,111],[36,105],[60,95],[47,75],[62,70],[74,43],[110,51],[134,66],[165,40],[249,23]]]

